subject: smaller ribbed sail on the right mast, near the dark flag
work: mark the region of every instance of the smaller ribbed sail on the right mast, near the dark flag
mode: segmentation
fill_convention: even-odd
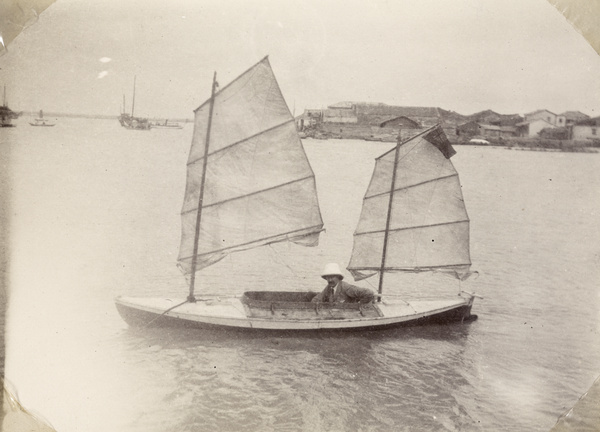
[[[398,152],[391,206],[395,149],[376,160],[348,270],[356,280],[381,270],[391,209],[384,272],[444,271],[467,277],[469,217],[450,161],[454,149],[438,125],[402,143]]]

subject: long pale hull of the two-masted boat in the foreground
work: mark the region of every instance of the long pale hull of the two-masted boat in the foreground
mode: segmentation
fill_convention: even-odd
[[[329,310],[319,309],[316,303],[303,313],[306,317],[293,316],[293,313],[272,310],[271,316],[252,316],[248,305],[241,297],[197,298],[195,303],[185,302],[184,298],[134,298],[115,299],[122,318],[134,327],[177,326],[189,328],[224,328],[245,330],[375,330],[399,326],[424,324],[447,324],[473,320],[471,315],[473,297],[461,296],[453,300],[382,301],[370,305],[379,316],[362,315],[340,318]],[[179,305],[179,306],[178,306]]]

